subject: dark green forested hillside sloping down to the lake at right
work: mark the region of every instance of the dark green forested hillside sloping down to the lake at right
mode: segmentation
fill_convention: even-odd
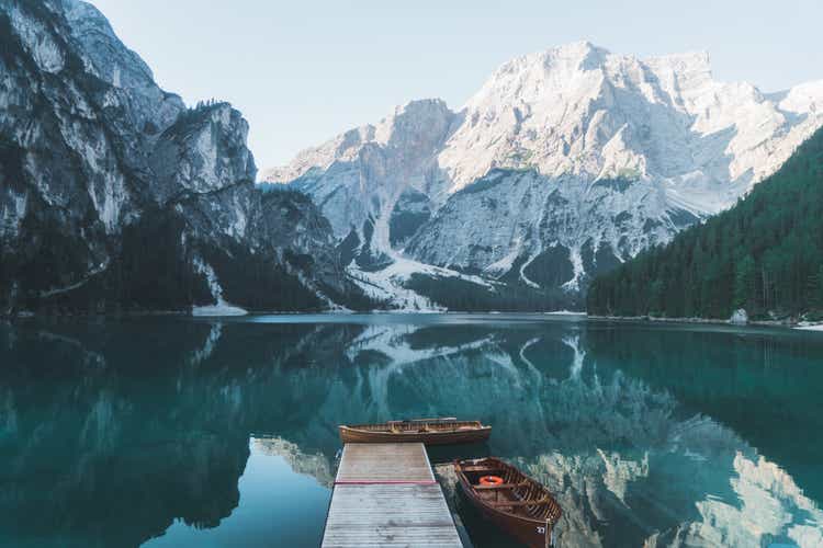
[[[823,311],[823,130],[732,209],[597,277],[593,315],[749,318]]]

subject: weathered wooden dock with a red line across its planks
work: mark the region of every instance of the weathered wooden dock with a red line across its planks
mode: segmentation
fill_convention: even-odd
[[[422,444],[343,447],[323,547],[368,546],[463,546]]]

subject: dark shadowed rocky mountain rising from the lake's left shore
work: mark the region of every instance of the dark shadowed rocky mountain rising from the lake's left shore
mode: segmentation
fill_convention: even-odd
[[[262,192],[248,124],[187,109],[79,0],[0,0],[0,311],[323,309],[331,227]]]

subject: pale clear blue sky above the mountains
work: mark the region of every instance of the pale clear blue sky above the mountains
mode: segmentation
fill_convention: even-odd
[[[638,57],[707,50],[763,91],[823,79],[822,0],[91,0],[188,104],[232,102],[258,168],[414,99],[460,109],[507,60],[588,39]]]

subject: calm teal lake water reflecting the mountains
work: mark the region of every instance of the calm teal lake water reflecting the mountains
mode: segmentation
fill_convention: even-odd
[[[477,418],[432,457],[551,488],[563,547],[823,546],[823,334],[543,316],[0,323],[0,546],[317,546],[336,426]]]

